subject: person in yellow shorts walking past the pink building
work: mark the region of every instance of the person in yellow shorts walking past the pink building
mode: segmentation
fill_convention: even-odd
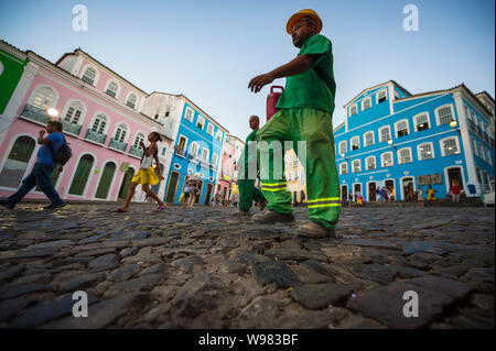
[[[161,179],[163,180],[163,176],[160,174],[160,167],[157,168],[159,173],[159,176],[157,176],[155,167],[152,166],[153,160],[155,160],[155,163],[159,164],[157,143],[162,141],[162,138],[158,132],[151,132],[148,135],[148,140],[150,142],[148,147],[143,142],[140,142],[140,146],[143,149],[143,157],[141,158],[140,169],[131,179],[131,185],[129,186],[125,205],[118,208],[116,212],[127,212],[129,210],[129,204],[131,202],[131,198],[134,195],[138,184],[141,184],[143,191],[159,204],[159,207],[157,207],[158,212],[165,208],[165,204],[157,196],[155,191],[150,188],[150,186],[159,184]]]

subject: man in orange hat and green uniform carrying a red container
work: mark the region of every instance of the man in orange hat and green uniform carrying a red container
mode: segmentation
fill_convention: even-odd
[[[334,237],[341,210],[332,124],[336,92],[333,53],[331,41],[319,34],[321,30],[322,20],[315,11],[301,10],[293,14],[287,23],[287,32],[291,34],[293,45],[300,48],[296,58],[252,78],[248,85],[252,92],[258,92],[274,79],[288,77],[276,106],[278,112],[256,136],[260,160],[262,153],[269,154],[269,162],[260,163],[261,189],[268,210],[252,219],[261,223],[294,221],[284,175],[274,175],[273,171],[277,150],[267,145],[272,142],[283,145],[284,141],[305,142],[303,166],[310,221],[300,226],[299,231],[309,238]],[[293,147],[300,156],[298,144]],[[276,162],[282,162],[284,169],[283,158]]]

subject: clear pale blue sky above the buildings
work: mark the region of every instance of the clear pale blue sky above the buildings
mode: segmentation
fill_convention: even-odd
[[[88,31],[73,30],[73,8]],[[403,8],[418,8],[405,31]],[[249,80],[295,57],[288,19],[313,9],[333,43],[333,124],[363,89],[396,80],[411,94],[464,83],[495,97],[494,0],[0,0],[0,39],[55,63],[80,47],[147,92],[183,94],[242,140],[266,120],[269,87]],[[277,79],[272,85],[284,85]]]

